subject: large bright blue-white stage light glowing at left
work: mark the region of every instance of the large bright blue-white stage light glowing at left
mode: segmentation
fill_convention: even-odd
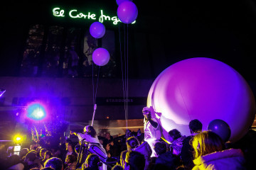
[[[33,103],[27,108],[27,117],[33,120],[46,118],[46,109],[40,103]]]

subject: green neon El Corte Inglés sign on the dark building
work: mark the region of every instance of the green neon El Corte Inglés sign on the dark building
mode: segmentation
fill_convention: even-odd
[[[58,7],[53,8],[53,16],[55,17],[65,17],[65,10]],[[71,9],[68,11],[68,17],[70,18],[82,18],[87,20],[98,20],[100,23],[104,21],[112,21],[113,25],[117,25],[118,22],[121,22],[117,16],[107,16],[104,14],[103,10],[100,10],[100,16],[97,17],[95,13],[87,12],[81,13],[77,9]],[[134,21],[133,23],[135,23]],[[132,24],[133,24],[132,23]]]

